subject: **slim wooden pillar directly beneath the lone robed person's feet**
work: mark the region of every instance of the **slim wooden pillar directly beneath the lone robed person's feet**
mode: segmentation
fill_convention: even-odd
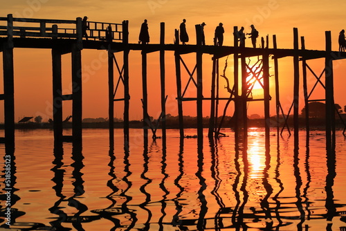
[[[147,98],[147,53],[145,50],[142,50],[142,94],[143,94],[143,97],[142,97],[143,135],[144,135],[144,139],[147,140],[148,138],[147,122],[149,122],[149,116],[148,116],[148,98]]]

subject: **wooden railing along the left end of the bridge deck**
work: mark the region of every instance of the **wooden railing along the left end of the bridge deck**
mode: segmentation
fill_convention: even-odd
[[[111,31],[112,40],[122,41],[122,24],[87,21],[87,25],[89,28],[86,34],[91,40],[105,40],[108,31]],[[80,18],[57,20],[0,17],[0,37],[78,39],[82,37],[81,30]]]

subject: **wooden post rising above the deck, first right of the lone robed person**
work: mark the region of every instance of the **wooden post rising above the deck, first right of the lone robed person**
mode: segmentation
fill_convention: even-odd
[[[160,78],[161,78],[161,124],[162,124],[162,136],[163,140],[166,138],[166,107],[165,107],[165,23],[161,22],[161,33],[160,33]]]

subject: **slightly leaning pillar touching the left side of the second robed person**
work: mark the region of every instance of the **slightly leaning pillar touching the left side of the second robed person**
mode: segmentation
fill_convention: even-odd
[[[183,122],[183,100],[181,96],[181,68],[179,54],[179,30],[175,30],[175,71],[176,71],[176,97],[178,98],[178,117],[179,117],[179,133],[180,138],[184,137],[184,122]]]

